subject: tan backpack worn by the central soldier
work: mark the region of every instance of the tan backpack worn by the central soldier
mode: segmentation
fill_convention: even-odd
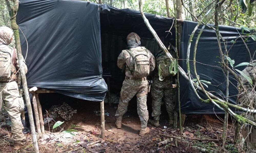
[[[131,64],[128,67],[130,72],[135,78],[147,77],[150,72],[150,57],[147,49],[145,47],[140,50],[127,49],[127,52],[131,55]]]

